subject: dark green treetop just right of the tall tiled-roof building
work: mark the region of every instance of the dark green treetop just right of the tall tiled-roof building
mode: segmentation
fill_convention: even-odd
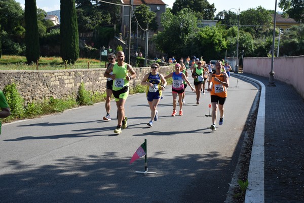
[[[210,5],[207,0],[176,0],[173,3],[172,13],[176,15],[184,8],[188,8],[200,20],[212,20],[216,11],[214,4]]]

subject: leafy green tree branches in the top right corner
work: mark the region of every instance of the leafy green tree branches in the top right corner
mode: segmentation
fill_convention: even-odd
[[[304,1],[280,0],[279,7],[286,12],[290,18],[297,22],[304,23]]]

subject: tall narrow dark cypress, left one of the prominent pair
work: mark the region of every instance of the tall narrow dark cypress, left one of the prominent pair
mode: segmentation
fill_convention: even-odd
[[[28,63],[40,58],[36,0],[25,0],[25,56]]]

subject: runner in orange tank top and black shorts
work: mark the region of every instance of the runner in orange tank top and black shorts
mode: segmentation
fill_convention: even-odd
[[[216,130],[215,121],[217,108],[219,109],[219,125],[222,125],[224,122],[224,103],[227,97],[227,87],[229,87],[229,78],[225,72],[221,72],[222,62],[217,61],[215,65],[215,71],[212,72],[209,76],[208,89],[211,95],[211,104],[212,104],[212,125],[210,129]],[[212,85],[212,86],[211,86]]]

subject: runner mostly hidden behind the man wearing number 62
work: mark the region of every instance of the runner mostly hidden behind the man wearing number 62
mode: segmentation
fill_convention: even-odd
[[[116,55],[115,54],[108,54],[108,64],[107,64],[107,68],[110,66],[110,64],[115,64],[116,63]],[[109,73],[109,75],[112,75],[113,72]],[[103,74],[103,76],[105,76],[105,73]],[[110,110],[111,110],[111,106],[110,106],[110,101],[111,101],[111,96],[113,94],[113,80],[111,78],[107,78],[106,80],[106,98],[105,98],[105,111],[106,111],[106,116],[103,117],[103,120],[111,120],[110,117]]]

